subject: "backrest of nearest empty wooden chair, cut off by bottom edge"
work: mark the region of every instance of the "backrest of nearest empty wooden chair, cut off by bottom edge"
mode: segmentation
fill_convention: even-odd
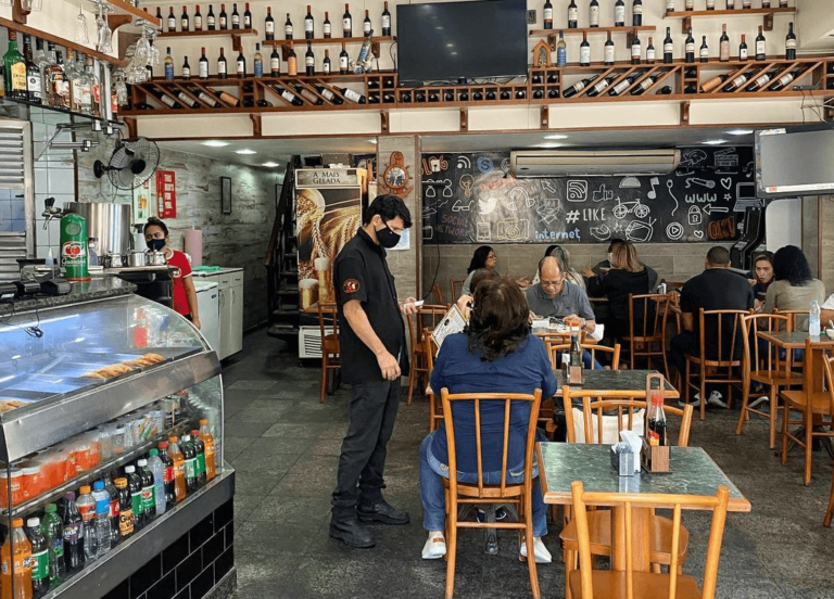
[[[634,590],[634,537],[632,531],[632,510],[634,508],[653,508],[657,506],[671,507],[672,509],[672,546],[670,548],[671,563],[669,574],[670,599],[678,594],[678,566],[680,565],[681,543],[681,512],[683,509],[711,510],[712,524],[709,530],[709,543],[707,545],[707,559],[704,569],[703,599],[715,599],[716,581],[718,578],[718,562],[721,553],[721,541],[724,535],[726,522],[726,505],[730,499],[730,489],[725,485],[718,487],[715,496],[703,495],[659,495],[659,494],[632,494],[632,493],[589,493],[584,490],[581,481],[571,484],[573,495],[573,514],[577,521],[577,539],[579,544],[580,577],[582,581],[582,597],[595,597],[594,595],[594,561],[591,557],[591,535],[587,525],[587,506],[622,506],[626,510],[626,594],[628,599],[640,597]],[[596,558],[593,558],[594,560]],[[597,595],[601,596],[601,595]]]

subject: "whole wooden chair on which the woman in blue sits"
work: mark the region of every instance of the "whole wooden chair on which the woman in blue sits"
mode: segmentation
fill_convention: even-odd
[[[443,479],[446,489],[446,599],[452,599],[455,590],[455,561],[457,558],[457,530],[458,528],[509,528],[523,534],[527,545],[527,566],[530,574],[530,587],[533,598],[540,599],[539,575],[535,568],[535,550],[533,549],[533,520],[532,520],[532,490],[533,490],[533,446],[535,445],[535,422],[539,416],[539,405],[542,400],[542,390],[535,390],[532,395],[522,393],[459,393],[450,394],[447,388],[441,390],[443,402],[443,418],[446,428],[446,444],[448,446],[448,471],[457,472],[457,456],[455,445],[455,421],[452,416],[452,403],[473,402],[475,406],[475,432],[476,451],[478,455],[478,482],[458,483],[457,476]],[[483,476],[483,463],[481,461],[481,448],[484,439],[481,435],[481,403],[495,402],[503,404],[504,426],[501,483],[486,484]],[[529,402],[530,418],[527,423],[527,442],[525,444],[525,480],[522,483],[507,482],[507,455],[509,445],[510,403]],[[462,405],[459,409],[467,409]],[[495,443],[495,439],[491,439]],[[518,509],[519,521],[507,522],[508,519],[498,522],[475,522],[457,520],[458,505],[501,504],[515,505]]]

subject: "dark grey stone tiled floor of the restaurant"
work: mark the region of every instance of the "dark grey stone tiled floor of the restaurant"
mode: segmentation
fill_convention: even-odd
[[[389,444],[386,496],[412,514],[407,526],[372,526],[377,546],[350,549],[329,538],[330,493],[350,391],[318,403],[319,370],[301,368],[281,342],[260,331],[224,370],[226,459],[237,469],[235,558],[239,599],[443,597],[445,562],[424,561],[418,447],[427,405],[403,403]],[[753,512],[731,513],[719,568],[718,597],[832,598],[834,530],[822,526],[831,460],[814,455],[814,479],[803,485],[801,460],[786,467],[767,447],[764,421],[734,434],[737,411],[710,411],[695,421],[691,445],[703,446],[750,499]],[[686,514],[693,538],[686,571],[704,568],[707,514]],[[500,536],[498,556],[482,552],[479,532],[459,544],[455,597],[528,598],[530,585],[515,536]],[[554,553],[539,569],[543,597],[564,596],[558,531],[545,544]]]

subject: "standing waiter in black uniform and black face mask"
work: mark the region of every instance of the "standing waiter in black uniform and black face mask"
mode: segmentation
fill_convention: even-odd
[[[414,297],[397,301],[384,248],[396,245],[410,226],[410,214],[400,197],[376,197],[333,265],[342,379],[352,385],[353,398],[339,457],[330,536],[351,547],[374,547],[374,537],[361,522],[408,523],[406,512],[382,498],[382,472],[400,405],[400,375],[408,374],[402,315],[417,311]]]

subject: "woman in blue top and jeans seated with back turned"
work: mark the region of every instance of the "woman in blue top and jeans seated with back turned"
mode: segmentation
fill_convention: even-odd
[[[506,278],[482,281],[475,291],[469,327],[463,333],[447,336],[431,372],[431,388],[443,387],[450,393],[530,393],[542,390],[542,397],[556,393],[556,378],[551,370],[547,351],[539,337],[530,334],[529,310],[523,293]],[[478,467],[472,404],[458,404],[453,410],[457,449],[458,481],[476,483]],[[525,444],[530,417],[530,405],[517,403],[511,408],[509,473],[523,470]],[[484,481],[501,482],[503,453],[504,407],[481,407],[481,430]],[[420,495],[424,506],[422,526],[429,538],[422,548],[422,558],[438,559],[446,555],[443,537],[445,528],[445,499],[440,477],[448,477],[448,453],[445,423],[430,433],[420,446]],[[533,470],[534,475],[538,468]],[[508,475],[507,482],[518,483],[521,476]],[[535,561],[547,563],[551,553],[542,543],[547,534],[547,510],[536,475],[532,497],[533,543]],[[521,555],[527,546],[521,545]]]

